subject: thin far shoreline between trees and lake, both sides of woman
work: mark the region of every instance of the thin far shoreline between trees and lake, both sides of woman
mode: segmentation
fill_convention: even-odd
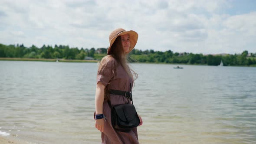
[[[79,60],[79,59],[30,59],[30,58],[0,58],[0,61],[38,61],[38,62],[100,62],[98,60]],[[145,64],[170,64],[170,65],[206,65],[207,64],[187,64],[187,63],[164,63],[164,62],[132,62],[132,63],[145,63]],[[241,66],[241,67],[256,67],[256,65],[226,65],[226,66]],[[224,67],[226,67],[224,66]]]

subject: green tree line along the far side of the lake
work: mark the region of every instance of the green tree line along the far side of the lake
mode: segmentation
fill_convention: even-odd
[[[38,48],[34,45],[25,47],[19,45],[0,44],[0,57],[2,58],[33,58],[33,59],[91,59],[101,60],[107,53],[106,48],[78,49],[69,46],[55,45]],[[165,52],[133,49],[129,53],[131,62],[154,62],[154,63],[175,63],[175,64],[201,64],[201,65],[256,65],[256,53],[249,53],[247,50],[241,54],[226,55],[203,55],[189,52]]]

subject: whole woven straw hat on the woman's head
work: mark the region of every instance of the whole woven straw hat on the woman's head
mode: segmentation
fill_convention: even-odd
[[[121,35],[125,35],[125,34],[129,34],[130,36],[130,49],[127,53],[131,52],[131,50],[135,47],[136,43],[137,43],[137,40],[138,40],[138,33],[136,33],[135,31],[133,30],[130,30],[130,31],[126,31],[125,29],[122,29],[122,28],[118,28],[118,29],[115,29],[114,31],[112,31],[112,33],[110,33],[109,35],[109,47],[108,47],[108,55],[109,55],[109,52],[110,52],[110,49],[111,49],[111,46],[113,45],[113,43],[115,42],[115,39],[118,37],[118,36],[121,36]]]

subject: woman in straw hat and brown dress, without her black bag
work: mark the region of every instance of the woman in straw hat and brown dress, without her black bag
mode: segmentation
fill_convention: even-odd
[[[95,128],[102,132],[102,144],[138,144],[137,128],[130,131],[116,131],[111,124],[112,105],[131,103],[122,95],[109,93],[110,89],[131,92],[138,75],[127,64],[126,55],[135,47],[138,34],[135,31],[115,29],[109,35],[107,56],[100,62],[95,93]],[[135,76],[135,78],[134,78]],[[139,116],[139,115],[138,115]],[[142,125],[142,119],[140,124]]]

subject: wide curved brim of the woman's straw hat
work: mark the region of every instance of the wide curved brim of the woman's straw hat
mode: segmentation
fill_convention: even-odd
[[[113,39],[111,39],[111,43],[108,47],[108,52],[107,52],[107,55],[109,55],[109,52],[110,52],[110,49],[112,48],[112,45],[113,43],[115,42],[115,39],[118,37],[118,36],[121,36],[121,35],[125,35],[125,34],[129,34],[130,36],[130,48],[128,50],[128,52],[126,53],[129,53],[131,52],[132,49],[134,49],[137,41],[138,41],[138,33],[136,33],[135,31],[133,30],[130,30],[130,31],[124,31],[124,32],[121,32],[119,33],[118,35],[116,35],[115,37],[113,37]]]

